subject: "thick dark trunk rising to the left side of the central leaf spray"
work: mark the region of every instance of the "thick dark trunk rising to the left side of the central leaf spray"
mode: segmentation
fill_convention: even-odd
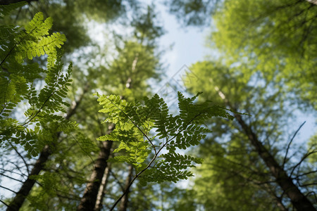
[[[111,124],[108,127],[108,134],[111,133],[114,129],[114,124]],[[77,210],[94,210],[96,205],[97,195],[99,187],[101,185],[102,178],[104,177],[104,171],[107,167],[107,162],[109,155],[111,153],[111,146],[113,141],[101,141],[101,147],[99,151],[98,158],[94,163],[94,170],[90,175],[89,182],[85,188],[84,195],[80,200],[80,205],[78,205]]]

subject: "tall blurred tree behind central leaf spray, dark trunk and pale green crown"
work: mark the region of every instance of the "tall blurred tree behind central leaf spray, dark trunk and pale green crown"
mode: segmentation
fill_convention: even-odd
[[[156,77],[156,70],[160,65],[158,58],[154,56],[156,47],[154,41],[161,36],[162,29],[156,26],[153,8],[148,7],[146,13],[136,18],[135,37],[133,38],[136,41],[124,41],[123,47],[117,46],[120,54],[113,60],[110,68],[104,68],[109,77],[106,81],[101,82],[101,86],[106,82],[106,86],[111,84],[116,87],[115,90],[112,90],[113,93],[118,93],[127,99],[135,99],[137,96],[144,95],[144,90],[147,90],[149,86],[146,83],[147,79]],[[107,84],[107,82],[109,83]],[[114,125],[111,124],[110,127],[108,133],[112,132]],[[113,141],[101,143],[99,157],[77,210],[94,209],[112,144]]]

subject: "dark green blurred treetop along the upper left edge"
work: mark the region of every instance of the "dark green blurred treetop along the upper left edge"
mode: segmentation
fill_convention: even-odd
[[[14,0],[15,1],[15,0]],[[0,2],[10,4],[11,0]],[[27,1],[27,5],[14,11],[5,18],[5,23],[15,22],[18,25],[27,23],[37,12],[42,12],[46,18],[54,19],[52,31],[61,32],[68,37],[64,45],[65,53],[72,53],[83,46],[89,46],[92,40],[87,34],[88,27],[94,20],[99,23],[110,23],[117,19],[126,20],[128,11],[137,10],[139,1]]]

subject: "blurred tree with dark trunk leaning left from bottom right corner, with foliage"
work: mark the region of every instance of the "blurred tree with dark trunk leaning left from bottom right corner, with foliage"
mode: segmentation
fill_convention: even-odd
[[[303,151],[302,158],[298,159],[299,162],[288,157],[289,148],[284,146],[290,144],[291,140],[285,139],[285,129],[290,124],[289,117],[292,111],[290,106],[286,107],[287,92],[280,87],[282,84],[267,81],[261,75],[246,77],[240,68],[242,67],[223,68],[211,62],[197,63],[191,68],[193,73],[200,77],[197,82],[187,86],[194,91],[204,87],[205,94],[202,95],[204,100],[213,99],[223,103],[230,110],[251,115],[246,118],[236,114],[234,124],[223,122],[221,127],[217,127],[214,122],[211,123],[215,136],[206,139],[201,148],[201,153],[206,153],[210,161],[204,165],[201,179],[197,179],[198,186],[201,184],[199,187],[204,188],[206,183],[225,177],[227,180],[221,182],[216,179],[217,186],[215,186],[225,191],[224,198],[232,196],[225,200],[235,198],[240,203],[249,200],[249,205],[261,210],[259,204],[263,203],[263,200],[261,201],[263,193],[269,193],[271,196],[268,196],[266,201],[274,201],[281,209],[289,206],[283,205],[287,201],[285,200],[287,196],[297,210],[314,210],[310,201],[314,199],[306,196],[313,190],[313,183],[310,190],[304,190],[299,184],[306,181],[304,177],[307,175],[316,174],[311,169],[311,164],[305,162],[306,157],[316,153],[316,148]],[[223,134],[224,140],[218,138],[220,134]],[[302,175],[301,177],[294,175],[294,170],[299,164],[303,165],[301,170],[304,171],[297,173]],[[247,195],[239,196],[232,190],[233,187],[240,186],[237,181],[240,181],[241,190]],[[248,185],[244,186],[244,184]],[[205,189],[203,193],[208,196],[209,191]],[[201,189],[197,192],[201,193]],[[221,195],[217,194],[216,198],[219,197]],[[206,206],[210,205],[213,209],[232,209],[230,205],[217,203],[217,200],[212,198],[204,201]],[[267,205],[262,206],[263,210],[267,208]]]

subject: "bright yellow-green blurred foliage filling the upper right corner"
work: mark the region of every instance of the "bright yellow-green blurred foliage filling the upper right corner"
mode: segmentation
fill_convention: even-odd
[[[309,1],[227,0],[213,16],[209,43],[228,66],[261,71],[316,107],[316,13]]]

